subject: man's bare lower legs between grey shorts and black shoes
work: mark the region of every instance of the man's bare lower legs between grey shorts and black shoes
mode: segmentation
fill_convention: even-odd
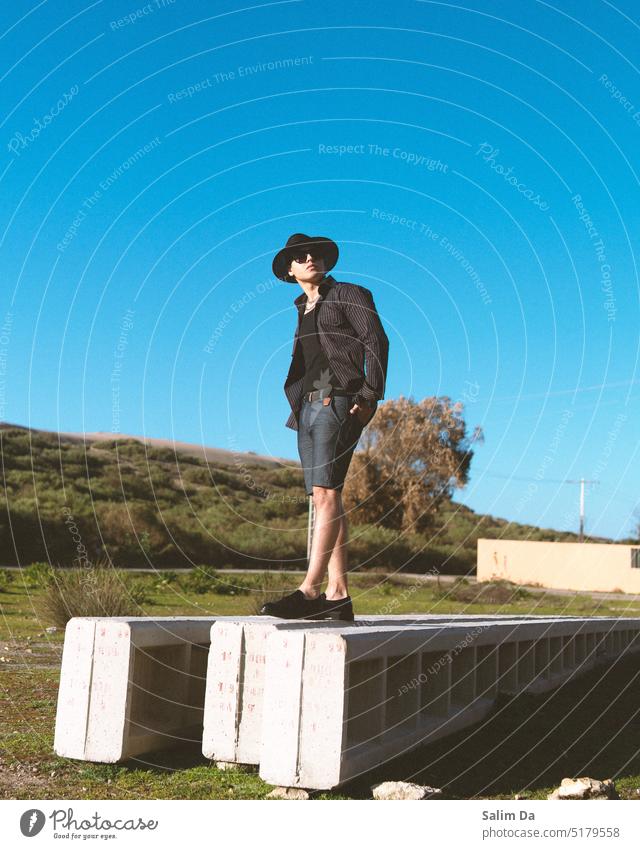
[[[322,582],[327,570],[330,568],[330,586],[327,588],[328,598],[343,598],[339,594],[344,591],[346,596],[346,578],[344,566],[346,566],[346,552],[342,545],[346,517],[342,506],[342,494],[339,490],[329,489],[323,486],[313,487],[313,503],[315,507],[315,523],[313,529],[313,542],[311,544],[311,555],[309,557],[309,568],[305,579],[299,589],[307,598],[317,598],[320,595]],[[337,557],[336,557],[337,555]],[[336,587],[338,592],[336,593]],[[334,595],[330,596],[328,590],[332,589]]]

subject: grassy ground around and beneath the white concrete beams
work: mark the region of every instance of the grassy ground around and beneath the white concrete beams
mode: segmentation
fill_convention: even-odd
[[[139,615],[247,614],[260,595],[259,582],[248,594],[220,595],[187,591],[178,581],[159,585],[154,576],[139,580],[145,582],[148,597]],[[289,586],[295,581],[289,578]],[[0,592],[0,798],[260,799],[271,790],[255,773],[216,769],[197,747],[108,766],[54,755],[64,634],[45,630],[49,622],[38,613],[41,593],[19,580]],[[416,585],[383,581],[380,575],[354,575],[352,596],[359,615],[640,616],[639,603],[619,599],[533,596],[504,584]],[[452,798],[523,793],[536,799],[545,798],[562,778],[577,775],[612,777],[623,798],[640,798],[639,692],[640,659],[622,659],[544,696],[502,699],[483,723],[320,798],[367,798],[371,784],[395,778],[442,787]]]

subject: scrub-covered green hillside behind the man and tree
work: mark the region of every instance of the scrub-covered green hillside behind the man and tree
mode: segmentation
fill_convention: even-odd
[[[308,500],[299,466],[206,450],[214,453],[3,425],[0,563],[72,566],[106,554],[124,568],[303,568]],[[350,564],[465,574],[475,569],[480,536],[577,539],[448,502],[431,534],[352,523]]]

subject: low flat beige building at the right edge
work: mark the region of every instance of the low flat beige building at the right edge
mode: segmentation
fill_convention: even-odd
[[[640,546],[478,540],[478,581],[640,593]]]

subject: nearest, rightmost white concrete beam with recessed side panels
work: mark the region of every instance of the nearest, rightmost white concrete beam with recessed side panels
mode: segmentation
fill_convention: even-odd
[[[500,691],[539,692],[640,648],[639,619],[540,618],[266,638],[260,776],[336,787],[483,719]]]

